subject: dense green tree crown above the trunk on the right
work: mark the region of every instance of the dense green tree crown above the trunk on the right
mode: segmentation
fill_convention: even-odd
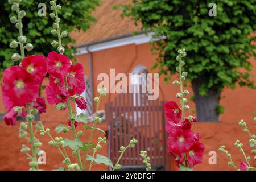
[[[201,93],[225,86],[234,89],[236,82],[255,88],[248,73],[253,66],[248,58],[256,57],[255,44],[251,44],[256,40],[251,36],[256,30],[255,0],[217,1],[215,17],[208,15],[211,2],[133,0],[120,6],[122,16],[131,16],[135,24],[142,23],[143,30],[156,33],[154,38],[160,41],[152,43],[158,55],[152,69],[159,69],[165,81],[175,73],[177,49],[185,48],[189,81],[207,77]]]

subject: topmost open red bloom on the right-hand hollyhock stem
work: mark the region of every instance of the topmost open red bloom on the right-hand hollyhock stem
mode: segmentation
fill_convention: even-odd
[[[170,122],[179,123],[181,119],[181,109],[174,101],[169,101],[164,104],[166,118]]]

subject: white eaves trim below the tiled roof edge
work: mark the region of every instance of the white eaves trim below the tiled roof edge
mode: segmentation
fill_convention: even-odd
[[[110,48],[115,48],[115,47],[120,47],[120,46],[126,46],[129,44],[145,44],[151,41],[152,35],[154,32],[148,32],[148,34],[140,34],[140,35],[135,35],[135,36],[129,36],[126,38],[120,38],[116,40],[109,40],[108,42],[103,42],[103,43],[96,43],[91,46],[83,46],[83,47],[78,47],[77,48],[77,53],[76,55],[82,55],[88,53],[87,49],[89,49],[90,52],[97,52],[97,51],[102,51],[105,49],[110,49]]]

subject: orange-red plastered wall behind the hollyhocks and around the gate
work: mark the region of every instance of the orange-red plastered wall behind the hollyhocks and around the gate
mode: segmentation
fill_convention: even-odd
[[[130,73],[137,65],[145,65],[150,71],[150,67],[155,61],[155,57],[151,55],[150,47],[148,44],[141,44],[136,46],[131,44],[128,46],[122,46],[112,49],[106,49],[104,51],[93,52],[93,86],[94,94],[97,96],[97,76],[99,73],[110,73],[110,68],[115,68],[115,74],[117,73]],[[189,57],[189,55],[187,55]],[[77,56],[79,63],[84,65],[85,74],[90,79],[89,74],[89,56],[79,55]],[[256,73],[255,61],[251,58],[250,61],[254,64],[252,73]],[[150,71],[152,72],[152,71]],[[157,72],[154,70],[153,72]],[[189,74],[189,73],[188,73]],[[175,76],[172,77],[172,80]],[[256,81],[256,78],[254,78]],[[47,84],[47,80],[44,84]],[[164,84],[163,77],[159,80],[160,88],[163,90],[163,95],[159,94],[160,100],[175,100],[178,89],[176,86],[170,84]],[[188,84],[189,85],[189,84]],[[192,94],[192,89],[187,86],[187,89]],[[44,95],[44,94],[43,94]],[[109,98],[111,97],[111,98]],[[1,98],[1,96],[0,96]],[[100,109],[104,109],[104,104],[108,100],[112,100],[114,94],[108,94],[102,99]],[[244,119],[247,122],[247,126],[251,132],[255,132],[255,123],[253,118],[256,115],[256,90],[249,88],[237,88],[236,90],[225,89],[222,92],[221,104],[225,107],[225,113],[221,115],[221,122],[201,122],[193,125],[195,132],[200,132],[202,139],[201,142],[205,144],[205,154],[203,157],[203,163],[197,166],[198,170],[229,170],[233,169],[228,166],[227,158],[224,154],[218,151],[220,145],[225,145],[228,151],[232,154],[234,163],[239,166],[240,159],[243,159],[242,154],[234,146],[234,142],[237,139],[244,144],[245,151],[249,154],[250,147],[248,140],[250,139],[247,134],[242,133],[242,128],[238,126],[238,122]],[[74,106],[74,105],[73,105]],[[195,115],[195,104],[189,101],[191,110],[186,114]],[[4,110],[2,104],[0,104],[0,110]],[[57,111],[55,106],[47,105],[47,113],[41,115],[41,120],[44,125],[50,127],[52,130],[59,125],[60,122],[67,123],[67,111]],[[106,130],[106,123],[101,124]],[[27,169],[27,160],[23,154],[20,154],[20,146],[23,143],[23,139],[18,138],[18,126],[10,127],[5,126],[3,122],[0,123],[0,169]],[[41,139],[42,137],[40,137]],[[61,157],[55,154],[55,148],[48,146],[48,139],[42,139],[44,142],[43,150],[47,153],[47,165],[44,169],[56,169],[60,162]],[[107,154],[106,146],[102,152]],[[217,164],[210,165],[208,163],[208,152],[217,152]],[[58,154],[59,155],[59,154]],[[251,155],[253,159],[253,156]],[[244,160],[244,159],[243,159]],[[255,162],[254,162],[255,166]],[[107,169],[102,166],[97,169]],[[176,169],[174,163],[171,162],[171,169]]]

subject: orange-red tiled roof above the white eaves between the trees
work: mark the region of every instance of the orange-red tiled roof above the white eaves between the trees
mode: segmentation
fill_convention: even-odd
[[[121,18],[121,9],[113,10],[112,8],[114,5],[129,2],[131,0],[103,0],[92,14],[97,22],[93,23],[86,32],[73,31],[71,33],[71,38],[76,40],[76,46],[139,31],[140,28],[134,25],[131,18]]]

